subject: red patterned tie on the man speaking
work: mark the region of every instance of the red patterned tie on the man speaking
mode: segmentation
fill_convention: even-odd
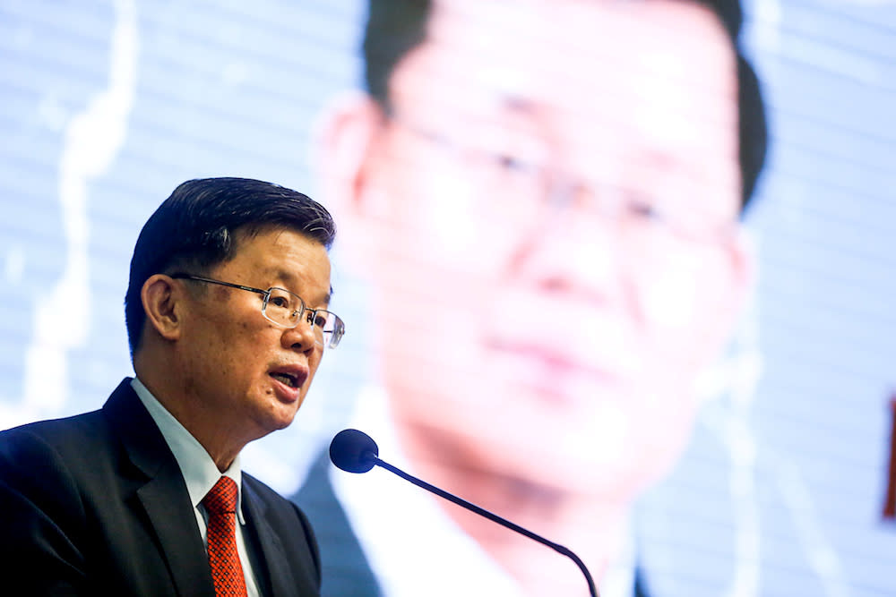
[[[215,594],[246,595],[246,579],[237,552],[237,483],[221,477],[202,498],[209,512],[209,565]]]

